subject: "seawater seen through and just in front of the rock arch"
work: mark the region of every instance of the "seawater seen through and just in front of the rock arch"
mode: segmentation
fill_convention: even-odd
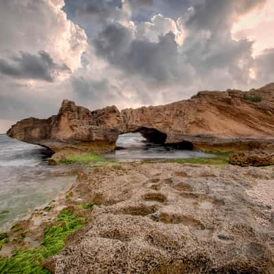
[[[130,160],[153,159],[187,159],[187,158],[212,158],[213,155],[198,151],[175,149],[172,146],[157,145],[147,142],[140,133],[121,134],[116,142],[117,149],[113,153],[105,154],[107,158],[120,162]]]

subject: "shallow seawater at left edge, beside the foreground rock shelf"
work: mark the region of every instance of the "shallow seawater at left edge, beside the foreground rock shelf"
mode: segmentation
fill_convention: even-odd
[[[0,134],[0,228],[75,182],[69,166],[49,166],[48,158],[47,149]]]

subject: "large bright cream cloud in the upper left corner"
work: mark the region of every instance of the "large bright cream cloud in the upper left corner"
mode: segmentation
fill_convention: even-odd
[[[63,6],[63,0],[1,1],[0,58],[18,51],[35,54],[42,50],[71,71],[80,68],[87,37],[66,18]]]

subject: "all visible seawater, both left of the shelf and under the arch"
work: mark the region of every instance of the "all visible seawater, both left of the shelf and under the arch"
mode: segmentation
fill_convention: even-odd
[[[212,157],[155,145],[140,134],[123,134],[116,145],[123,148],[105,154],[119,162],[143,159]],[[79,166],[49,166],[47,149],[0,134],[0,229],[8,228],[30,210],[54,199],[75,182]],[[74,175],[73,175],[74,174]]]

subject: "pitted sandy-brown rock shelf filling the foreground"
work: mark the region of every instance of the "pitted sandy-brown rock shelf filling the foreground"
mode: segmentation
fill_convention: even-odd
[[[70,203],[97,206],[45,265],[55,274],[274,273],[273,171],[169,163],[90,169],[79,174]]]

